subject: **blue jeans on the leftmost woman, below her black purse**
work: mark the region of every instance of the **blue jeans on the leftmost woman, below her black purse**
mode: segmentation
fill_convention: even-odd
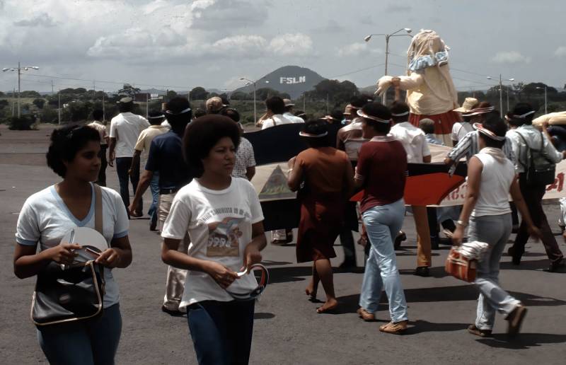
[[[37,328],[37,340],[50,364],[108,365],[122,332],[120,304],[104,308],[98,318]]]

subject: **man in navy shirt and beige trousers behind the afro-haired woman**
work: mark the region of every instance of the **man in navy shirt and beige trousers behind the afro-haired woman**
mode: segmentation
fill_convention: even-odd
[[[151,141],[146,168],[136,195],[129,206],[130,212],[135,212],[141,196],[151,184],[154,174],[159,175],[159,204],[158,228],[163,231],[163,224],[171,210],[171,204],[181,187],[187,185],[193,178],[192,170],[183,159],[183,134],[192,117],[189,100],[173,98],[167,103],[165,116],[171,125],[171,130],[160,134]],[[190,238],[187,235],[180,241],[178,250],[187,253]],[[161,311],[170,315],[183,315],[180,302],[183,297],[187,270],[169,266],[167,270],[165,296]]]

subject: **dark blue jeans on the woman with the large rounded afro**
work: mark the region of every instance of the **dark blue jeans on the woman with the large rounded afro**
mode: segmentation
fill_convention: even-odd
[[[255,301],[201,301],[187,307],[200,365],[248,364]]]

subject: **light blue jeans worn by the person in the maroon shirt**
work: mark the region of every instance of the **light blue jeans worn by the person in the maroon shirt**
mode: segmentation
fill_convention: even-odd
[[[381,289],[385,287],[391,321],[407,320],[407,303],[393,249],[395,236],[403,226],[405,202],[400,199],[392,204],[373,207],[366,210],[362,217],[371,248],[366,262],[359,306],[369,313],[376,312]]]

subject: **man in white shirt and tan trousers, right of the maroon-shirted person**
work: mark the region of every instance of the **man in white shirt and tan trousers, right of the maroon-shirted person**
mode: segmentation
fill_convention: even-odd
[[[389,107],[393,127],[389,132],[403,144],[407,152],[408,163],[429,163],[432,159],[424,132],[408,122],[409,106],[401,101],[394,101]],[[430,229],[427,207],[412,206],[412,216],[417,228],[417,269],[415,275],[429,276],[432,265]]]

